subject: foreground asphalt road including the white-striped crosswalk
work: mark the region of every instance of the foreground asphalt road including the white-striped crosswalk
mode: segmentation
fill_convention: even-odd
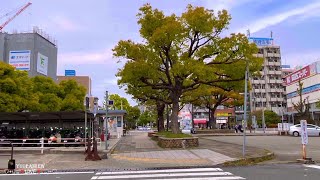
[[[155,169],[114,172],[69,172],[37,175],[1,175],[0,180],[88,180],[88,179],[177,179],[177,180],[318,180],[320,166],[301,164],[257,165],[248,167],[210,167],[191,169]]]

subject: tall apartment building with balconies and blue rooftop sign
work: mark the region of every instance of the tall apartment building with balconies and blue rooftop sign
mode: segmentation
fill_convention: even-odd
[[[250,78],[250,107],[255,110],[272,110],[277,114],[286,106],[282,80],[280,46],[274,45],[273,38],[249,38],[257,44],[258,57],[264,59],[260,75]]]

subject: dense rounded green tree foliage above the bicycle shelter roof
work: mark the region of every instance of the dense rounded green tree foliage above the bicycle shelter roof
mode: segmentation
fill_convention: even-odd
[[[86,90],[75,80],[57,84],[45,76],[28,77],[0,62],[0,112],[52,112],[84,109]]]

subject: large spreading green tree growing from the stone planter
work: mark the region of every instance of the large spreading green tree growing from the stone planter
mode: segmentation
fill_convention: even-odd
[[[138,13],[144,41],[120,41],[113,49],[116,57],[127,60],[120,70],[121,78],[132,76],[143,86],[169,92],[173,133],[180,132],[179,102],[184,93],[201,84],[243,80],[246,63],[250,70],[261,66],[261,60],[254,56],[256,45],[244,34],[221,37],[230,19],[225,10],[215,14],[191,5],[181,16],[166,16],[146,4]]]

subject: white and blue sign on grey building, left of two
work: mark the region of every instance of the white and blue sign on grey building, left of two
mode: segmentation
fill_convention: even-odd
[[[17,70],[30,70],[30,56],[31,51],[10,51],[9,52],[9,64],[15,67]]]

